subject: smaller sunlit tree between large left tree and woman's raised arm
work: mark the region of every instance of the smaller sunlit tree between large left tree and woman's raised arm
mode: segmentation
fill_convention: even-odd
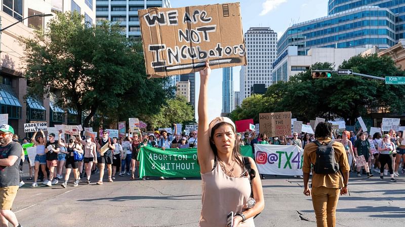
[[[172,127],[173,123],[195,121],[194,107],[187,102],[184,96],[177,96],[162,105],[158,113],[145,116],[145,118],[151,124],[151,129]]]

